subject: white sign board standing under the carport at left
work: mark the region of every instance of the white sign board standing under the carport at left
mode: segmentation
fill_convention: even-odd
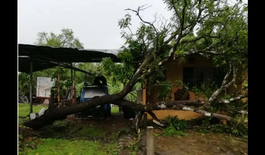
[[[50,97],[52,86],[54,81],[51,78],[37,77],[36,97]]]

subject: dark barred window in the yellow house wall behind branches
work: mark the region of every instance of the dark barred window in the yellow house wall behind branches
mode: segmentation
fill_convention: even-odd
[[[221,86],[225,72],[216,67],[183,67],[183,83],[189,88],[201,88],[201,84],[212,84],[214,82],[218,87]]]

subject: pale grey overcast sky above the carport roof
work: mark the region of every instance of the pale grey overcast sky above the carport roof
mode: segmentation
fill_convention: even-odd
[[[141,12],[144,20],[153,21],[156,12],[171,17],[162,0],[18,0],[18,43],[33,44],[37,32],[58,34],[62,28],[69,28],[86,49],[118,49],[124,43],[118,19],[128,12],[125,9],[145,4],[152,7]],[[136,30],[140,20],[129,13]]]

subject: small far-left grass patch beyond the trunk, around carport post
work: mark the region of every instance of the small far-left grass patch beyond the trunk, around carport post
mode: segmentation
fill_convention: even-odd
[[[38,113],[41,108],[47,109],[48,106],[36,106],[33,105],[32,110],[33,113]],[[18,116],[27,116],[30,113],[30,104],[18,104]],[[22,124],[29,120],[29,117],[26,118],[18,118],[18,124]]]

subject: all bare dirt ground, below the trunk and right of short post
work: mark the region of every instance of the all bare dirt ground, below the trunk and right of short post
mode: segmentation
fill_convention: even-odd
[[[125,120],[123,114],[113,114],[110,120],[66,120],[73,124],[72,131],[82,131],[84,126],[100,130],[97,133],[104,133],[104,138],[94,136],[94,140],[102,143],[111,143],[113,133],[118,134],[117,147],[118,155],[136,154],[138,135],[134,134],[136,120]],[[71,126],[70,126],[71,128]],[[55,131],[55,129],[53,129]],[[49,133],[51,133],[49,131]],[[55,132],[54,132],[55,133]],[[51,136],[54,137],[55,134]],[[68,132],[67,132],[68,133]],[[246,155],[248,154],[248,143],[246,139],[237,138],[229,134],[199,133],[185,131],[187,136],[162,135],[161,129],[155,129],[155,151],[160,155]],[[94,133],[83,133],[91,134]],[[70,139],[71,134],[60,135],[63,139]],[[75,135],[77,136],[77,135]],[[114,135],[117,136],[117,135]],[[59,138],[59,137],[58,137]],[[92,139],[91,139],[92,140]]]

